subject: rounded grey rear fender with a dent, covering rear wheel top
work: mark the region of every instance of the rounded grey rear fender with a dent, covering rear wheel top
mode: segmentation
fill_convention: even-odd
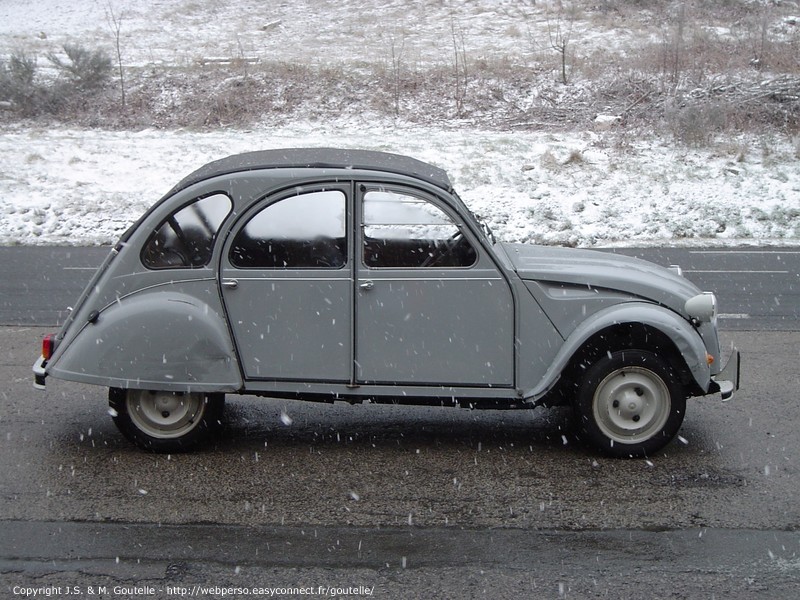
[[[59,350],[46,368],[59,379],[164,391],[242,388],[223,317],[177,291],[151,290],[112,303]]]

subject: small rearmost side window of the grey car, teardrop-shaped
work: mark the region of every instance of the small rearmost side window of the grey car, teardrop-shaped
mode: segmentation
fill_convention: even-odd
[[[171,214],[148,238],[142,262],[150,269],[208,265],[217,232],[231,206],[228,196],[214,194]]]

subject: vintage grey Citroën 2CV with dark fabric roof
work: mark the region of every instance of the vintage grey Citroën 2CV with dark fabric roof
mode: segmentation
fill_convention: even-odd
[[[732,396],[716,299],[680,269],[498,242],[430,164],[267,150],[192,173],[122,236],[34,365],[110,388],[135,444],[194,447],[226,394],[523,409],[645,456]]]

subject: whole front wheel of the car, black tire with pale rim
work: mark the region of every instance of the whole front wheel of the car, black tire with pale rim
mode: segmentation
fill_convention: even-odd
[[[578,388],[575,410],[582,437],[618,458],[652,455],[678,433],[686,393],[675,370],[645,350],[599,358]]]

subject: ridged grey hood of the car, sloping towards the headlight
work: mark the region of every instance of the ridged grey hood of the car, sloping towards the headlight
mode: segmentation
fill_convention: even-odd
[[[522,279],[617,290],[685,315],[686,300],[700,293],[688,279],[654,263],[609,252],[502,244]]]

